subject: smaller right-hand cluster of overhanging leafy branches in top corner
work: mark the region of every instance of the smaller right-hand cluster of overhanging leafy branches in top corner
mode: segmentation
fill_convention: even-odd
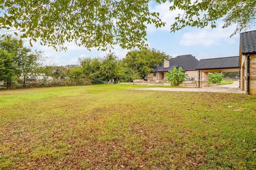
[[[216,21],[224,21],[223,28],[235,24],[235,33],[241,32],[255,25],[256,1],[254,0],[196,0],[180,1],[173,0],[170,10],[177,8],[183,11],[175,18],[171,25],[171,31],[177,31],[184,27],[204,28],[210,25],[216,27]]]

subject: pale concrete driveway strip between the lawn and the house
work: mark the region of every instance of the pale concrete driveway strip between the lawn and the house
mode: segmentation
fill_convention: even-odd
[[[233,84],[211,86],[205,88],[140,88],[135,90],[159,90],[159,91],[194,91],[194,92],[227,92],[244,94],[244,91],[239,89],[239,81],[234,81]]]

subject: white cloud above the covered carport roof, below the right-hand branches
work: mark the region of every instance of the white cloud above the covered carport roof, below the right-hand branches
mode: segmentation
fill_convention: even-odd
[[[228,44],[236,43],[238,35],[230,38],[230,35],[235,30],[235,27],[229,27],[226,29],[222,28],[222,22],[217,25],[217,28],[204,28],[200,30],[193,30],[184,33],[180,39],[180,45],[182,46],[214,46],[219,45],[221,41]]]

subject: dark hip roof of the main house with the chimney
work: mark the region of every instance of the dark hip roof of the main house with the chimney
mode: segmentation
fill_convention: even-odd
[[[196,66],[198,65],[198,60],[191,54],[188,55],[180,55],[175,58],[170,58],[169,60],[170,66],[168,68],[164,68],[164,64],[155,67],[153,72],[158,71],[169,71],[173,70],[174,67],[182,67],[183,71],[188,70],[196,70]]]

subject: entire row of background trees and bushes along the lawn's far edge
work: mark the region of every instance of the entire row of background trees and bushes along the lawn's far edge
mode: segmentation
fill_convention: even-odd
[[[6,36],[0,39],[0,86],[10,89],[132,82],[146,79],[155,66],[169,58],[156,49],[141,49],[128,52],[122,60],[109,53],[79,58],[78,65],[44,65],[42,52],[33,52],[23,46],[22,40]]]

